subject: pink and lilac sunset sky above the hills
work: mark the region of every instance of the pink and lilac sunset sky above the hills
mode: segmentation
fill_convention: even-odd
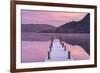
[[[86,13],[51,12],[22,10],[22,24],[49,24],[60,26],[67,22],[79,21]]]

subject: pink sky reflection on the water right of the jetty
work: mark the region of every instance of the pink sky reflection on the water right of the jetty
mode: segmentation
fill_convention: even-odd
[[[79,45],[71,45],[65,43],[66,49],[70,51],[71,56],[74,60],[88,60],[89,55],[85,52],[84,48]]]

